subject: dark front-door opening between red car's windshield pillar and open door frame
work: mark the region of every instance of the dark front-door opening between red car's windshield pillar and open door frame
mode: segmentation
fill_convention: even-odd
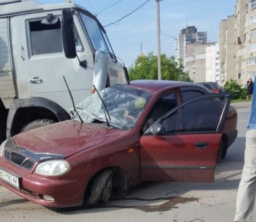
[[[177,105],[176,93],[171,92],[161,96],[151,109],[142,131],[145,132],[151,125],[154,124],[155,121],[159,120],[159,118],[164,116]]]

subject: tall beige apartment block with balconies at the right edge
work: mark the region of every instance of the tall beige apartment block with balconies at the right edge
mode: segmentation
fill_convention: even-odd
[[[256,75],[256,0],[237,0],[235,14],[219,26],[220,85],[245,85]]]

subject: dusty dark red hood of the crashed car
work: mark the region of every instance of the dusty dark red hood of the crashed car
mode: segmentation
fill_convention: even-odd
[[[15,135],[15,145],[35,153],[52,153],[69,157],[90,147],[118,140],[127,130],[108,129],[71,120]]]

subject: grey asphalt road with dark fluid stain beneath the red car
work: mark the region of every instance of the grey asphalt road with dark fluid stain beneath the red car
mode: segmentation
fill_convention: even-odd
[[[113,196],[107,205],[61,211],[27,202],[0,186],[0,221],[233,221],[250,102],[235,106],[238,137],[217,165],[215,183],[143,183],[125,197]]]

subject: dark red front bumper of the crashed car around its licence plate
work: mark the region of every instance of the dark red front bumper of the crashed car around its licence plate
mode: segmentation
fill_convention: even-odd
[[[19,166],[0,158],[0,168],[11,175],[21,177],[21,186],[16,188],[0,179],[0,183],[8,190],[22,196],[31,202],[46,207],[74,207],[83,204],[85,181],[61,178],[43,178]],[[51,196],[54,200],[45,200],[43,195]]]

